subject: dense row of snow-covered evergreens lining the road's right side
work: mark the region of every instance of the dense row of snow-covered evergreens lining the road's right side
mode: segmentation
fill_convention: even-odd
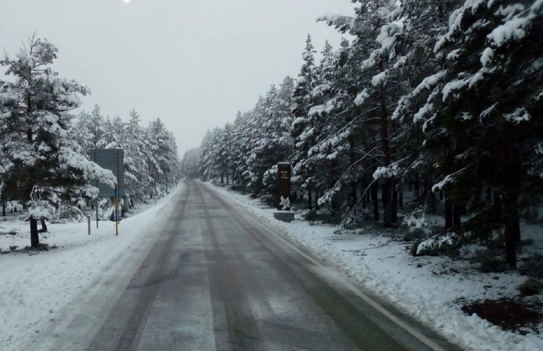
[[[308,35],[293,84],[206,134],[200,175],[273,199],[289,161],[298,208],[345,226],[400,225],[413,187],[407,225],[444,199],[443,233],[423,247],[497,234],[515,265],[523,206],[543,194],[543,1],[352,2],[318,20],[355,39],[319,61]]]

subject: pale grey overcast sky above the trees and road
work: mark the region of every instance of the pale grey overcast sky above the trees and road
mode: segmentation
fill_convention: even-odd
[[[160,117],[180,156],[207,129],[283,77],[296,77],[307,34],[317,51],[341,35],[315,19],[352,14],[350,0],[0,0],[0,47],[15,55],[34,30],[59,48],[61,77],[89,86],[83,108]]]

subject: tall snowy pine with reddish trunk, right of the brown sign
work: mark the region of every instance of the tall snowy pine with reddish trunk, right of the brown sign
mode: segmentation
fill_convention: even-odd
[[[357,36],[354,46],[360,47],[358,53],[367,52],[368,56],[351,56],[350,59],[361,60],[358,73],[358,95],[354,103],[362,106],[365,111],[361,114],[375,118],[379,123],[377,128],[380,141],[381,157],[378,168],[375,170],[374,179],[382,179],[383,182],[383,227],[392,227],[396,221],[397,193],[394,191],[397,177],[396,146],[391,145],[391,136],[394,134],[392,111],[390,105],[397,101],[396,96],[400,89],[394,82],[395,52],[393,43],[403,28],[399,21],[400,4],[388,0],[359,0],[355,9],[356,15],[349,16],[324,16],[320,20],[335,26],[340,31],[349,30]],[[369,76],[369,77],[368,77]],[[369,78],[369,79],[368,79]],[[394,83],[392,89],[389,83]]]

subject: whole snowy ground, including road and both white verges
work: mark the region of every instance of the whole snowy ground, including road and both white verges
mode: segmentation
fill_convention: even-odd
[[[454,349],[434,329],[466,349],[540,349],[538,335],[503,331],[451,303],[512,294],[525,278],[439,274],[462,267],[414,258],[376,233],[283,223],[271,212],[183,181],[123,220],[118,237],[110,222],[91,236],[86,223],[50,225],[42,242],[57,249],[0,255],[1,348]],[[0,222],[0,234],[16,233],[1,234],[0,248],[28,245],[27,225]]]

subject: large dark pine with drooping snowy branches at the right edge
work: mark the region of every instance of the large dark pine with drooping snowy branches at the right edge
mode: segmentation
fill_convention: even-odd
[[[472,232],[503,228],[506,260],[516,264],[520,240],[517,198],[541,194],[543,170],[543,1],[467,0],[450,16],[434,47],[445,64],[426,78],[424,121],[427,148],[447,145],[437,159],[441,181],[475,215]],[[482,200],[484,187],[497,202]]]

